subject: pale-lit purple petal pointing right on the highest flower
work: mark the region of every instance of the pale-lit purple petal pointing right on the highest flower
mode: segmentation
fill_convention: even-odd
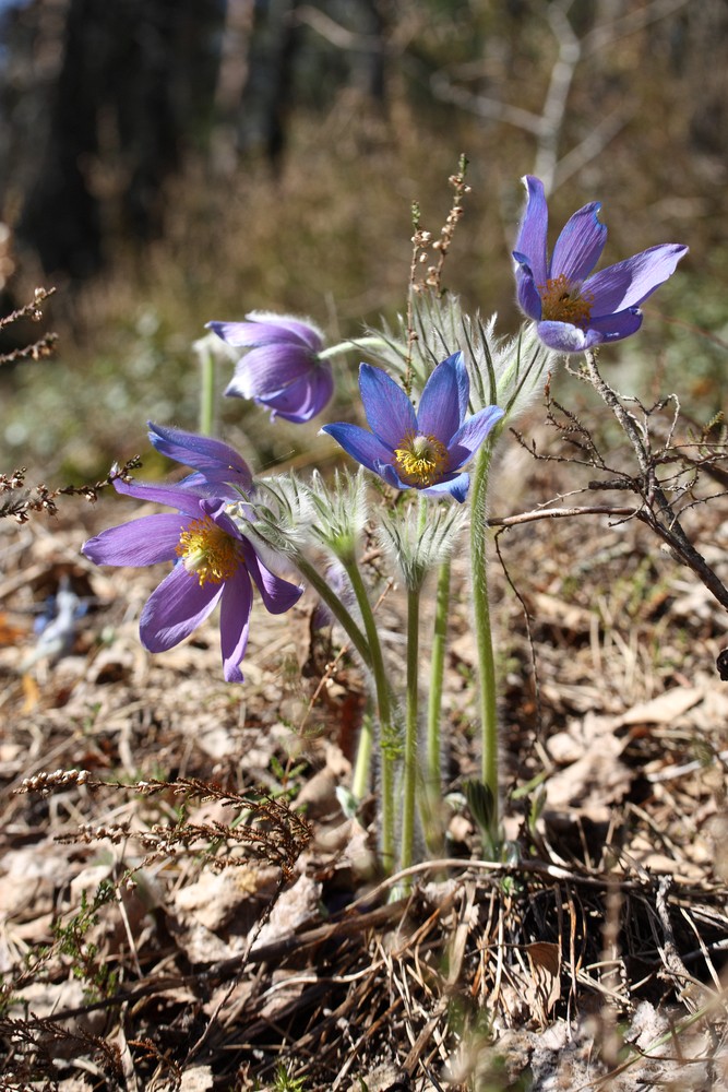
[[[593,296],[592,313],[612,314],[639,307],[675,273],[678,262],[687,253],[688,247],[667,242],[595,273],[582,289],[584,295],[588,293]]]

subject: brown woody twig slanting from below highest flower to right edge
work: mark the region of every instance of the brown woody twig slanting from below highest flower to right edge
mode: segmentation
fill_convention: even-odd
[[[642,496],[646,505],[646,513],[637,513],[643,522],[647,523],[660,538],[671,547],[683,565],[687,565],[703,581],[707,590],[724,607],[728,607],[728,589],[718,579],[702,554],[700,554],[690,538],[685,534],[677,513],[675,512],[665,491],[660,486],[659,478],[655,470],[654,459],[651,456],[640,430],[632,415],[624,408],[614,390],[602,379],[597,367],[597,358],[594,352],[588,352],[586,356],[586,367],[588,380],[601,401],[609,406],[614,417],[619,422],[622,430],[629,439],[634,453],[637,456],[640,472],[642,475]],[[653,511],[653,503],[659,510],[661,519],[658,519]],[[645,518],[646,517],[646,518]]]

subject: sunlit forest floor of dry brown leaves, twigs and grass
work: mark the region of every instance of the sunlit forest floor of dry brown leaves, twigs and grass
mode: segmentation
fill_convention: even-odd
[[[499,490],[533,505],[553,486],[525,459]],[[442,852],[403,897],[373,797],[347,819],[335,792],[365,709],[342,636],[307,598],[256,602],[244,685],[222,680],[214,620],[148,656],[160,570],[79,553],[136,514],[74,498],[0,524],[0,1087],[728,1087],[728,618],[644,529],[513,529],[520,597],[493,553],[505,863],[462,795],[479,748],[455,562]],[[719,568],[728,529],[704,507],[692,530]],[[64,583],[85,614],[36,658]],[[396,589],[379,617],[397,672]]]

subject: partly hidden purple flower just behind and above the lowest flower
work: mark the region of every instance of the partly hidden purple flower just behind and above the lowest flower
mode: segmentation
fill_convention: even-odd
[[[253,476],[248,463],[235,448],[210,436],[184,432],[181,428],[147,423],[150,440],[163,455],[194,467],[180,485],[216,497],[239,500],[240,495],[253,488]]]

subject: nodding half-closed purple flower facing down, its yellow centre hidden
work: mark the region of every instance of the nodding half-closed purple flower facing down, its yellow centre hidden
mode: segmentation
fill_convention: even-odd
[[[329,360],[319,356],[323,336],[310,322],[289,314],[251,311],[246,322],[208,322],[234,348],[250,349],[236,365],[225,393],[253,399],[271,417],[310,420],[334,393]]]

